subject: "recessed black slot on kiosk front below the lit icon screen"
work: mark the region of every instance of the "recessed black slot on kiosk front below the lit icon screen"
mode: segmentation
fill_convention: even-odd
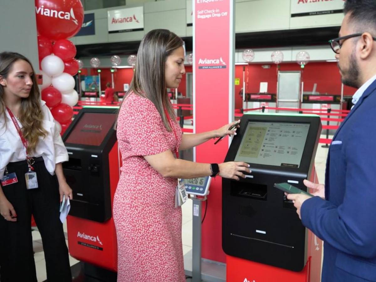
[[[267,200],[267,185],[236,182],[231,185],[231,196],[252,198],[257,200]]]

